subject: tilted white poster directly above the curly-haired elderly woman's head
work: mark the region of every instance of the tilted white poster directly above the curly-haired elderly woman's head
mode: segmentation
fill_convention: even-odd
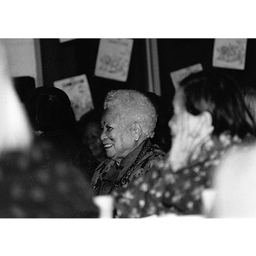
[[[101,39],[95,75],[125,82],[128,77],[133,39]]]

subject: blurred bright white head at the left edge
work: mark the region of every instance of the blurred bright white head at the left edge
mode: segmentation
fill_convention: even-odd
[[[7,56],[0,42],[0,153],[30,146],[32,131],[26,111],[9,76]]]

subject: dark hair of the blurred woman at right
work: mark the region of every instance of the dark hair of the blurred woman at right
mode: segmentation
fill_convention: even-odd
[[[253,120],[249,118],[241,89],[235,80],[218,71],[202,71],[183,79],[180,86],[183,88],[184,106],[189,113],[211,113],[213,134],[220,135],[224,131],[239,137],[255,134]]]

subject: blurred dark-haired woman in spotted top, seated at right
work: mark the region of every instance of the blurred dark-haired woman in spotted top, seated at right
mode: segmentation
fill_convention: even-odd
[[[169,122],[172,148],[143,178],[114,193],[119,218],[167,212],[201,214],[201,195],[228,148],[254,135],[241,91],[218,73],[195,73],[180,83]]]

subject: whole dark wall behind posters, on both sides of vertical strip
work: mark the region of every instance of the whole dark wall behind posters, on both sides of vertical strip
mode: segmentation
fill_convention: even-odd
[[[99,39],[74,39],[61,44],[59,39],[40,39],[44,85],[52,86],[55,80],[85,73],[96,107],[102,105],[108,90],[125,88],[148,90],[147,40],[134,39],[126,82],[102,79],[94,75],[99,41]],[[204,69],[213,68],[214,39],[160,38],[156,42],[157,48],[150,50],[157,51],[154,52],[154,56],[158,58],[158,70],[153,68],[152,72],[159,77],[161,97],[172,112],[172,97],[175,90],[170,73],[197,63],[201,63]],[[256,40],[247,40],[245,70],[225,68],[221,70],[230,74],[242,86],[245,84],[256,86]],[[154,85],[159,86],[159,84]]]

